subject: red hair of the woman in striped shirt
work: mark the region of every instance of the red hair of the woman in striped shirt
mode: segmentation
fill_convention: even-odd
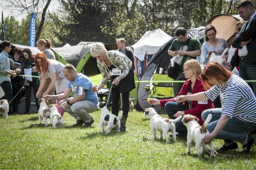
[[[204,89],[207,90],[210,87],[209,78],[216,78],[217,80],[228,81],[232,72],[227,70],[217,61],[211,61],[204,67],[204,71],[201,74]]]

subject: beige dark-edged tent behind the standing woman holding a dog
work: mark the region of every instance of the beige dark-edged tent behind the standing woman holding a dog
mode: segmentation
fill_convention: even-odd
[[[228,45],[232,43],[232,39],[236,33],[236,22],[242,20],[239,15],[217,14],[210,18],[206,26],[213,25],[216,28],[217,38],[224,38]]]

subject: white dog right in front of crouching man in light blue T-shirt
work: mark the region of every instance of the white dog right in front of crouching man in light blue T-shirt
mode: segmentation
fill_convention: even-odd
[[[64,123],[63,123],[63,118],[58,112],[57,105],[56,104],[50,104],[49,105],[50,109],[50,117],[51,117],[51,122],[52,122],[52,128],[55,129],[56,125],[60,125],[62,128]]]

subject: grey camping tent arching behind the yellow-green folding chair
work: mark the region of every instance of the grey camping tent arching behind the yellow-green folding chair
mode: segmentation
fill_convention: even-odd
[[[204,27],[198,27],[195,29],[187,30],[187,33],[190,37],[195,37],[200,40],[202,44],[204,42]],[[170,39],[167,43],[165,43],[159,50],[154,54],[150,63],[146,67],[146,70],[143,72],[141,79],[142,81],[150,81],[152,79],[152,74],[158,70],[158,68],[164,68],[166,64],[170,63],[170,55],[168,55],[168,49],[170,48],[172,41],[174,41],[176,37]],[[150,84],[149,82],[140,82],[137,87],[137,98],[138,104],[142,109],[147,107],[152,107],[148,104],[147,98],[149,96],[148,93],[144,90],[146,85]],[[161,109],[160,106],[154,106],[154,108],[159,111]]]

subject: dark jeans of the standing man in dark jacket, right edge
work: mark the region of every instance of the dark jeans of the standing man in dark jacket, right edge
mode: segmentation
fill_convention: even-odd
[[[239,76],[244,80],[256,80],[256,62],[239,61]],[[256,82],[248,82],[256,96]]]

